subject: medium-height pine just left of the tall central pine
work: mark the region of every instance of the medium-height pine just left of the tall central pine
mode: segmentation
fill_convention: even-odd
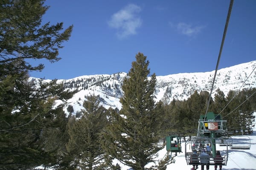
[[[84,101],[84,116],[69,128],[67,151],[73,158],[76,169],[97,170],[103,168],[105,151],[101,147],[102,130],[105,129],[107,117],[105,108],[99,106],[99,98],[89,96]]]

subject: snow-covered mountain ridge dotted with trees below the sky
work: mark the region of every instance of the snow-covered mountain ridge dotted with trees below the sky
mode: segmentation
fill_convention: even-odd
[[[256,88],[256,61],[234,65],[218,70],[215,79],[212,97],[219,88],[227,95],[230,90],[242,90],[243,88]],[[205,73],[180,73],[167,76],[157,76],[156,102],[165,99],[170,102],[173,98],[187,99],[195,90],[210,92],[215,71]],[[80,111],[86,96],[99,95],[105,108],[121,108],[119,102],[123,95],[122,82],[126,73],[102,74],[81,76],[73,79],[61,79],[65,88],[78,88],[68,105],[72,105],[74,113]],[[245,83],[244,83],[245,82]],[[244,85],[243,85],[244,84]]]

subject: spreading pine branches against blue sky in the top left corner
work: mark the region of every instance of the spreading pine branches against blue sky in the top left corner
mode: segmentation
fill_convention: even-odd
[[[45,0],[2,0],[0,2],[0,64],[1,74],[20,70],[39,70],[24,59],[48,59],[56,62],[60,58],[58,49],[70,37],[73,26],[63,30],[63,23],[41,24],[41,18],[49,8]],[[13,61],[20,60],[20,65]],[[15,66],[15,67],[14,67]]]

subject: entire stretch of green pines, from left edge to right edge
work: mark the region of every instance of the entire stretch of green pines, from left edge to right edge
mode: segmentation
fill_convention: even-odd
[[[26,59],[57,62],[58,50],[71,36],[73,26],[41,25],[47,9],[44,0],[0,3],[0,170],[120,170],[114,159],[134,170],[165,170],[173,160],[154,159],[164,147],[159,140],[170,133],[196,135],[208,92],[155,103],[156,75],[150,75],[147,57],[138,53],[122,84],[121,110],[106,109],[98,96],[88,96],[80,116],[67,116],[64,105],[76,91],[66,91],[56,80],[29,79],[29,71],[44,65],[32,66]],[[209,111],[221,112],[229,131],[249,132],[255,91],[224,96],[218,90]],[[56,100],[63,104],[56,106]],[[150,162],[155,164],[146,167]]]

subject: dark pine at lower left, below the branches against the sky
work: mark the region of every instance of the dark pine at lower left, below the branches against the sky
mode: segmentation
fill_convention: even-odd
[[[60,119],[63,106],[53,106],[72,94],[55,94],[62,89],[55,83],[12,76],[0,82],[0,169],[47,167],[57,161],[59,148],[50,145],[53,133],[48,132],[62,136],[66,122]]]

